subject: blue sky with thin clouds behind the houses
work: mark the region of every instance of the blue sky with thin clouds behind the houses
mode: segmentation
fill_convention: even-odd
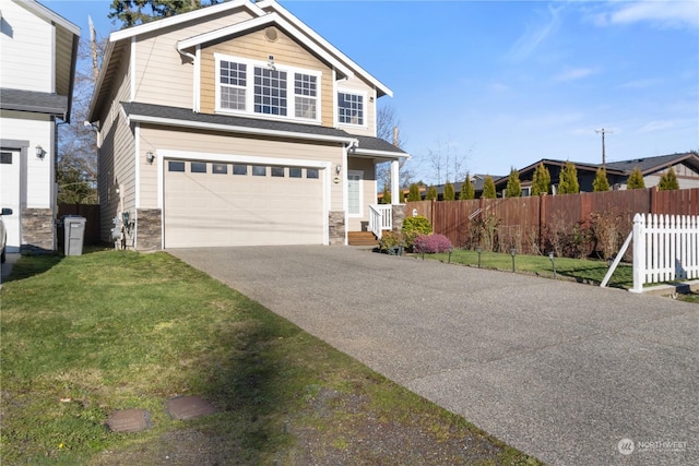
[[[110,1],[43,0],[87,36]],[[410,167],[507,175],[541,158],[699,150],[699,2],[281,1],[388,85]],[[460,180],[457,180],[460,181]]]

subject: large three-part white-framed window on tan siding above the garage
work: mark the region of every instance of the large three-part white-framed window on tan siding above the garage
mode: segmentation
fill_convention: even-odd
[[[216,53],[216,110],[320,121],[320,72]]]

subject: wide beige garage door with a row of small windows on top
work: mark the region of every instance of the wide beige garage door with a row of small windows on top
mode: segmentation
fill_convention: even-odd
[[[321,244],[318,168],[166,160],[165,248]]]

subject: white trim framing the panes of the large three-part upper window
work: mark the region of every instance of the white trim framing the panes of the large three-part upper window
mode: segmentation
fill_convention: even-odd
[[[245,87],[246,88],[246,96],[245,96],[246,109],[245,110],[234,110],[230,108],[223,108],[221,106],[221,64],[220,63],[222,60],[242,63],[247,65],[246,87]],[[307,123],[307,124],[321,123],[322,121],[322,115],[321,115],[322,72],[317,70],[309,70],[305,68],[289,67],[286,64],[279,64],[279,63],[274,64],[275,70],[286,72],[286,91],[287,91],[286,112],[287,115],[280,116],[280,115],[254,112],[254,68],[259,67],[259,68],[268,69],[269,68],[268,62],[259,61],[259,60],[250,60],[247,58],[234,57],[234,56],[224,55],[224,53],[214,53],[214,62],[215,62],[214,111],[216,113],[237,115],[237,116],[245,116],[245,117],[251,117],[251,118],[264,118],[264,119],[274,119],[274,120],[282,120],[282,121],[297,121],[297,122]],[[311,76],[316,76],[316,118],[315,119],[296,117],[296,93],[294,91],[295,73],[309,74]],[[304,96],[299,96],[299,97],[304,97]]]

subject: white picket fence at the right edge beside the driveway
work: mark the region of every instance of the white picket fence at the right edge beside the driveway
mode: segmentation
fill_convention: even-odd
[[[636,214],[631,291],[691,278],[699,278],[699,215]]]

